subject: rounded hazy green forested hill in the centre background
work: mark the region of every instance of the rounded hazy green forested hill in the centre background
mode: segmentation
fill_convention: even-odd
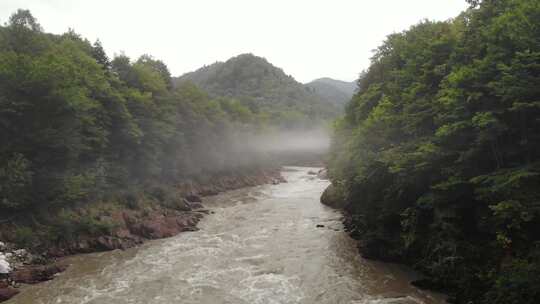
[[[242,54],[174,79],[192,82],[212,97],[233,98],[261,119],[285,128],[311,128],[334,119],[339,108],[306,89],[266,59]]]

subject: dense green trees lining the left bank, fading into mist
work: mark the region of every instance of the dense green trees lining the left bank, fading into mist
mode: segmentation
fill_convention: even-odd
[[[0,27],[2,221],[254,166],[238,143],[261,127],[234,100],[173,88],[151,56],[109,60],[99,41],[46,34],[25,10]]]

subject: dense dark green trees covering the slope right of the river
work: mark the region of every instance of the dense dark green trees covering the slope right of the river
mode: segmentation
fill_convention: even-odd
[[[376,50],[330,174],[366,256],[457,303],[539,303],[540,2],[470,3]]]

